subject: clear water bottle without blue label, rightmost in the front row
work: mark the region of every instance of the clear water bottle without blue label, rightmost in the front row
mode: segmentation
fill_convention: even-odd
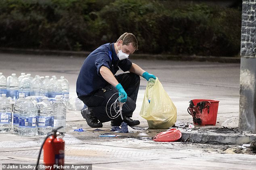
[[[61,135],[65,135],[66,133],[66,106],[62,102],[62,95],[57,95],[55,97],[55,101],[53,102],[54,108],[54,128],[63,126],[63,128],[59,129],[59,133]]]

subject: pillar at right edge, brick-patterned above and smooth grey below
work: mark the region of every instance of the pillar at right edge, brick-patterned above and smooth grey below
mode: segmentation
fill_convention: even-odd
[[[256,0],[243,0],[239,130],[256,132]],[[232,28],[231,28],[232,29]]]

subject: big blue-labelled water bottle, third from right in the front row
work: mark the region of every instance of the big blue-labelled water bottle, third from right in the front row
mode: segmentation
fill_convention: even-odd
[[[36,116],[37,107],[32,102],[31,96],[27,96],[26,100],[23,103],[21,103],[21,107],[19,110],[19,135],[36,135]]]

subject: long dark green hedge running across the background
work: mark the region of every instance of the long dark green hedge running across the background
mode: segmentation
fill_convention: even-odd
[[[136,53],[234,56],[241,11],[163,0],[1,0],[0,47],[92,51],[132,32]]]

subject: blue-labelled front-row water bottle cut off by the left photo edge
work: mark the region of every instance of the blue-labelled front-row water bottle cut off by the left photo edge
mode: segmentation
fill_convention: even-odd
[[[6,94],[0,97],[0,132],[9,132],[12,129],[12,105]]]

